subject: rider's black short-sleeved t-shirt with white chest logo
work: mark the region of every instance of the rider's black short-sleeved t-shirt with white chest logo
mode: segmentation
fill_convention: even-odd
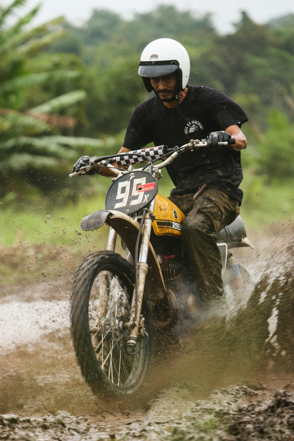
[[[123,146],[134,150],[153,142],[155,146],[182,146],[190,139],[206,138],[211,132],[226,130],[248,121],[242,107],[219,90],[188,86],[185,99],[167,108],[158,97],[139,104],[130,117]],[[203,147],[182,153],[167,166],[175,188],[171,194],[196,192],[203,184],[219,188],[242,202],[240,152],[224,148],[212,152]]]

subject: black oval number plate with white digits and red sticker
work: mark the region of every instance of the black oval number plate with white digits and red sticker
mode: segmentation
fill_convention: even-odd
[[[156,196],[158,182],[150,173],[130,172],[116,179],[109,188],[105,208],[133,214],[147,206]]]

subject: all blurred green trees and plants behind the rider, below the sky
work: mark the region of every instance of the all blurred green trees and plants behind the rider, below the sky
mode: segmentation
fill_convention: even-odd
[[[223,36],[209,14],[199,18],[164,5],[128,21],[97,9],[82,27],[63,18],[28,27],[36,7],[8,25],[25,3],[0,7],[3,206],[40,191],[55,203],[75,200],[87,183],[100,190],[102,178],[68,179],[68,173],[82,154],[121,147],[133,108],[149,97],[137,73],[141,51],[160,37],[185,45],[190,84],[222,90],[249,116],[243,206],[255,207],[257,188],[270,194],[280,186],[287,193],[294,172],[294,15],[259,25],[243,12],[234,33]]]

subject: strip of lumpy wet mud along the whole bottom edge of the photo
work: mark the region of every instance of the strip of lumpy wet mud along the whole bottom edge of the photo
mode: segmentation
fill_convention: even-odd
[[[291,441],[294,436],[294,392],[275,392],[272,400],[256,399],[265,385],[236,385],[194,400],[193,391],[171,387],[149,402],[144,415],[115,430],[66,411],[43,417],[0,416],[0,439],[46,441]],[[264,392],[267,395],[267,392]]]

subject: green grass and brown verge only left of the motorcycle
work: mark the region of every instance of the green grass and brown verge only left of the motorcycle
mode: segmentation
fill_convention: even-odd
[[[0,207],[0,280],[5,286],[72,273],[89,252],[104,249],[108,227],[83,232],[82,217],[104,208],[105,191],[87,191],[77,202],[52,198]]]

